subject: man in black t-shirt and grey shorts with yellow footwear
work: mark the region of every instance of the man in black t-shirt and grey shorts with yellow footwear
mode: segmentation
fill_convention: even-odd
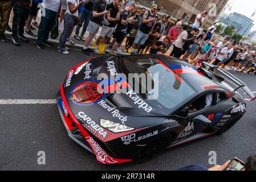
[[[110,13],[107,14],[108,22],[102,26],[100,36],[97,38],[96,46],[94,48],[95,53],[99,53],[99,43],[107,43],[108,38],[111,38],[113,31],[115,30],[116,22],[120,19],[121,14],[121,7],[119,6],[120,2],[123,2],[123,0],[114,0],[113,3],[107,5],[106,10],[110,11]]]

